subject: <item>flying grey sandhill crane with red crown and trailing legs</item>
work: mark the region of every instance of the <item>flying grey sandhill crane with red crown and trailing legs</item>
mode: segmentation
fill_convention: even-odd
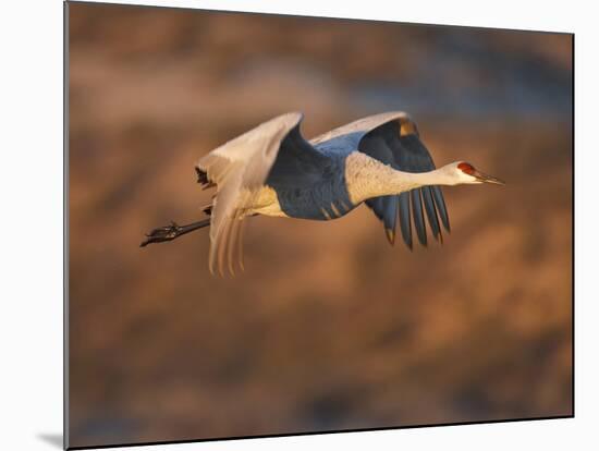
[[[441,186],[504,184],[466,161],[436,168],[414,120],[404,111],[358,119],[313,139],[302,136],[302,112],[288,112],[209,151],[195,172],[203,190],[216,188],[203,208],[207,218],[187,226],[171,222],[146,234],[140,246],[174,240],[210,227],[209,270],[242,270],[244,219],[257,215],[307,220],[344,217],[362,204],[395,242],[399,220],[413,248],[412,222],[427,245],[425,212],[442,243],[450,221]],[[423,207],[424,206],[424,207]]]

